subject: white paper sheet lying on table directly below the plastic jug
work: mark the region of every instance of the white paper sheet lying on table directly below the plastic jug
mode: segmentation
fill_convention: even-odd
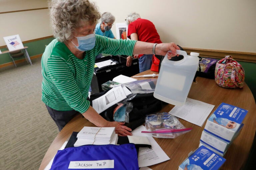
[[[175,106],[169,113],[202,127],[214,105],[187,98],[183,106]]]

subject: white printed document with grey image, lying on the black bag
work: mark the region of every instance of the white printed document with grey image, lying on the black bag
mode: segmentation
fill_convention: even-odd
[[[126,98],[126,93],[124,92],[122,86],[116,86],[110,89],[103,96],[92,101],[92,107],[97,113],[101,113],[107,108],[113,106],[114,104],[124,100]]]

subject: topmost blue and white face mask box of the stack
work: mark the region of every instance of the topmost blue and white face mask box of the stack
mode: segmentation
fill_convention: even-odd
[[[221,103],[207,120],[204,130],[230,142],[244,120],[247,110]]]

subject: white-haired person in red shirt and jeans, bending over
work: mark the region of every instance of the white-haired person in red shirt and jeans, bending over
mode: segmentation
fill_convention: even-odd
[[[151,21],[142,19],[140,15],[135,12],[128,14],[125,21],[128,24],[127,37],[129,39],[151,43],[162,43],[155,25]],[[138,58],[139,60],[140,72],[150,69],[152,64],[152,56],[153,54],[134,55],[134,58]],[[127,66],[132,64],[132,59],[132,56],[127,57]]]

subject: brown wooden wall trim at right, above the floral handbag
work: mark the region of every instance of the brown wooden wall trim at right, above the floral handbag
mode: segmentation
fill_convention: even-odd
[[[256,53],[254,53],[254,52],[225,51],[225,50],[200,49],[200,48],[188,48],[188,47],[183,47],[183,49],[188,54],[190,52],[198,52],[201,57],[222,59],[225,57],[225,55],[231,55],[237,61],[256,63]]]

